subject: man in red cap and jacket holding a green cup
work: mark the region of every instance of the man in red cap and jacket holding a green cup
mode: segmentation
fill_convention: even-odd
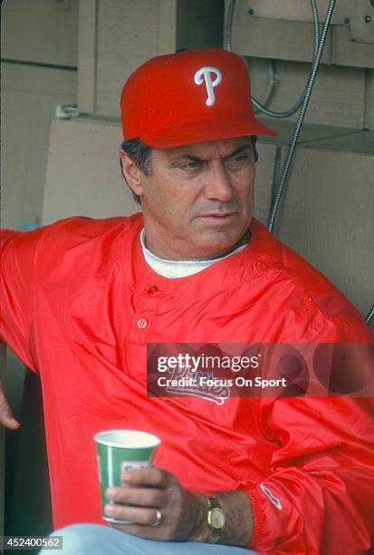
[[[68,526],[56,533],[69,553],[369,550],[369,399],[147,396],[149,343],[371,340],[253,219],[254,136],[273,131],[254,119],[245,64],[221,50],[154,58],[121,110],[142,215],[5,232],[2,333],[41,375],[53,521]],[[107,515],[133,523],[71,527],[103,524],[92,437],[112,428],[161,438],[155,467],[107,494]]]

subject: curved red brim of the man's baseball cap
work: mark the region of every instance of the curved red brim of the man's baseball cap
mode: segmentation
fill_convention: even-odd
[[[217,141],[245,135],[277,135],[269,127],[249,118],[227,118],[227,121],[206,120],[188,122],[161,131],[140,135],[140,139],[150,147],[168,149],[194,142]]]

